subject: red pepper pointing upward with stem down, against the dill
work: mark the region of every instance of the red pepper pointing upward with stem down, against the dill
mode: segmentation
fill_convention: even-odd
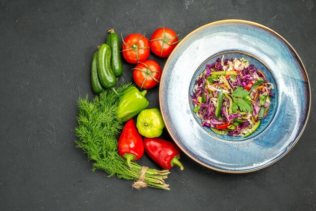
[[[127,161],[131,168],[131,161],[136,161],[144,154],[144,142],[134,124],[130,119],[126,122],[118,142],[119,154]]]

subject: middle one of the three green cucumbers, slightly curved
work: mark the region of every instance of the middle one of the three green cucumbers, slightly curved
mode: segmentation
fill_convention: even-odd
[[[97,51],[96,67],[102,86],[106,89],[115,87],[117,80],[111,69],[111,48],[109,45],[100,45]]]

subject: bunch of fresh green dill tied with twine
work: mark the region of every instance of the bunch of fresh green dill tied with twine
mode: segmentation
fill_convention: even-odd
[[[93,161],[92,171],[101,169],[111,176],[137,181],[133,187],[140,189],[146,186],[169,190],[164,179],[170,173],[168,170],[158,171],[141,167],[136,162],[131,162],[129,168],[126,161],[118,153],[117,137],[123,128],[122,121],[116,117],[118,103],[126,88],[132,83],[123,84],[117,89],[117,94],[112,90],[104,90],[91,101],[88,95],[79,97],[79,113],[77,117],[75,140],[77,147],[82,148],[88,160]]]

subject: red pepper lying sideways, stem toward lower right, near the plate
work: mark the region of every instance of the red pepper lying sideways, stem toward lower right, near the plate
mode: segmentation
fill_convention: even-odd
[[[145,151],[151,159],[164,169],[178,165],[183,170],[180,159],[180,148],[173,142],[160,138],[144,138]]]

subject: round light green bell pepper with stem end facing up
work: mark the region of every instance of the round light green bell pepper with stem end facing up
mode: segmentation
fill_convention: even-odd
[[[145,109],[138,115],[136,127],[140,135],[155,138],[163,133],[165,123],[158,109]]]

